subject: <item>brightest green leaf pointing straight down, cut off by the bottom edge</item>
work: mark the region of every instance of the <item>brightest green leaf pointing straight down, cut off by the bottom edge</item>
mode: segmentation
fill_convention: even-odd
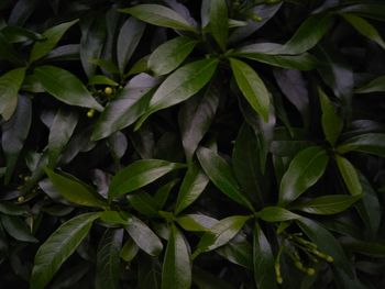
[[[172,224],[170,235],[162,266],[162,289],[191,287],[189,246],[179,230]]]

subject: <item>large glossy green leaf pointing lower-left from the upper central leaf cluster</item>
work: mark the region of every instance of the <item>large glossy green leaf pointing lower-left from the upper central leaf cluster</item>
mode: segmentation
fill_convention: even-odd
[[[201,59],[175,70],[152,97],[146,113],[135,125],[138,130],[154,112],[187,100],[204,88],[216,73],[219,59]]]

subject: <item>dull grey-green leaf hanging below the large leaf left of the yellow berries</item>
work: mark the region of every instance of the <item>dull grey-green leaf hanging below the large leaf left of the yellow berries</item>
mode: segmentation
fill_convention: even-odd
[[[48,166],[55,167],[62,151],[72,137],[78,123],[76,111],[58,109],[50,127],[48,136]]]

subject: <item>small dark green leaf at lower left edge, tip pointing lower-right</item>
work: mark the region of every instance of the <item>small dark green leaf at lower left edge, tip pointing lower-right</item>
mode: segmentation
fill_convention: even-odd
[[[20,216],[2,214],[1,224],[12,237],[21,242],[37,243],[38,240],[31,234],[31,229]]]

